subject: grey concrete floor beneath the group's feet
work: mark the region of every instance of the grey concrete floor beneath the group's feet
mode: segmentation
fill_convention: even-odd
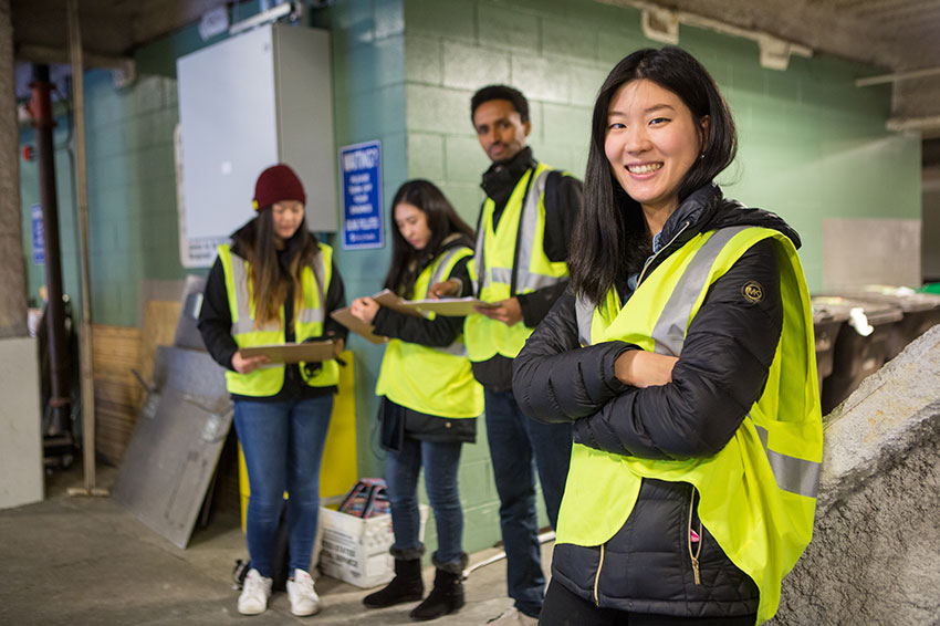
[[[114,468],[102,467],[97,484],[109,488],[115,477]],[[43,502],[0,511],[0,624],[415,624],[408,618],[414,604],[367,611],[362,598],[370,591],[328,577],[316,582],[320,615],[294,617],[286,595],[278,593],[267,613],[241,616],[231,572],[247,550],[237,518],[217,517],[180,550],[109,498],[66,494],[69,487],[81,484],[76,462],[49,477]],[[551,549],[551,543],[543,546],[546,572]],[[470,564],[498,552],[471,554]],[[426,585],[432,580],[434,568],[427,567]],[[464,588],[467,606],[431,624],[484,624],[512,605],[505,596],[505,561],[473,572]]]

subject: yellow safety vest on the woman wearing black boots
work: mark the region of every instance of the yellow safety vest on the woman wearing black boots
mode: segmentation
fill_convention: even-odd
[[[447,280],[457,262],[472,253],[458,247],[439,254],[415,281],[415,300],[427,298],[430,285]],[[432,320],[435,313],[428,316]],[[375,393],[428,415],[463,418],[483,413],[483,387],[473,378],[462,336],[447,347],[390,340]]]

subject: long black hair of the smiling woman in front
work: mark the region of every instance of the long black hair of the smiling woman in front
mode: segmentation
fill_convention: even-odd
[[[696,127],[709,118],[702,157],[679,184],[680,202],[731,165],[738,152],[728,104],[708,70],[685,50],[671,45],[638,50],[610,70],[594,103],[584,201],[568,257],[572,285],[594,302],[600,302],[618,280],[637,273],[651,253],[643,209],[614,177],[604,150],[610,101],[624,84],[640,79],[678,95]]]

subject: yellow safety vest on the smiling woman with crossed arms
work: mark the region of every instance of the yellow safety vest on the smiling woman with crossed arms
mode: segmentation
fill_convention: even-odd
[[[783,330],[763,394],[731,441],[713,457],[687,460],[639,459],[575,444],[556,540],[603,550],[627,521],[644,478],[689,482],[700,495],[702,524],[760,590],[759,624],[776,613],[781,581],[813,535],[823,457],[813,320],[796,249],[763,228],[700,233],[641,281],[623,307],[614,291],[599,306],[583,298],[576,304],[583,345],[625,341],[679,356],[711,284],[766,238],[776,241]],[[744,289],[761,296],[758,283]]]

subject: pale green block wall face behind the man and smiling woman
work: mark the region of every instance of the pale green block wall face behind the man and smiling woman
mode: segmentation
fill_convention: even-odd
[[[405,24],[409,175],[441,182],[469,219],[488,165],[469,123],[476,88],[520,87],[532,104],[536,156],[583,176],[607,72],[638,48],[661,45],[643,35],[639,11],[583,0],[406,0]],[[870,69],[828,58],[765,70],[756,43],[702,29],[681,27],[679,43],[718,81],[739,127],[738,161],[720,179],[725,192],[797,229],[811,290],[866,282],[873,264],[856,261],[873,257],[873,239],[890,250],[892,267],[919,277],[920,138],[885,131],[890,87],[858,88],[856,76]],[[827,219],[879,222],[875,232],[858,225],[861,240],[826,239]],[[826,267],[829,249],[853,262]]]

